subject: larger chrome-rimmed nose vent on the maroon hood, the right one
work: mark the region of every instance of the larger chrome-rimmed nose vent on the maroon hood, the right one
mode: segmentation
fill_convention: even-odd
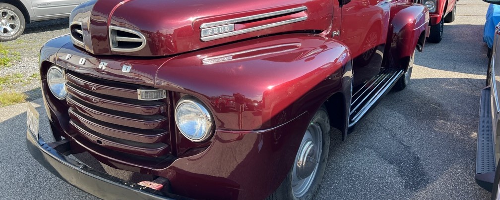
[[[128,28],[109,26],[109,42],[112,51],[138,51],[146,45],[146,39],[140,32]]]

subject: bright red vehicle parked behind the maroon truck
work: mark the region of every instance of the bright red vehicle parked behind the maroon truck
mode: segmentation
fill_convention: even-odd
[[[429,10],[430,33],[427,41],[439,43],[442,39],[444,23],[453,22],[458,0],[419,0]]]

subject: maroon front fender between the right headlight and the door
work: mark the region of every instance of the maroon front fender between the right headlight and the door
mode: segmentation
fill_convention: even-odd
[[[350,52],[343,43],[306,33],[254,38],[166,61],[156,73],[155,87],[173,91],[173,105],[186,95],[195,97],[208,107],[216,125],[205,151],[172,164],[185,171],[177,171],[176,178],[192,174],[227,177],[231,186],[224,188],[238,198],[265,198],[284,180],[308,122],[327,100],[329,111],[343,112],[330,112],[330,120],[339,120],[331,124],[345,129],[352,80],[350,62]],[[221,110],[215,103],[221,98],[234,101],[234,106],[226,104]],[[289,124],[293,124],[293,130],[269,131]],[[234,148],[227,148],[228,138]],[[248,144],[256,146],[244,148]],[[228,161],[217,152],[221,148],[224,155],[246,155],[258,162],[242,165],[240,161]],[[208,160],[221,165],[189,167]],[[228,176],[242,168],[272,175]],[[255,185],[262,180],[266,183]],[[199,180],[196,188],[214,187],[211,183]],[[172,187],[186,188],[183,183],[176,184]]]

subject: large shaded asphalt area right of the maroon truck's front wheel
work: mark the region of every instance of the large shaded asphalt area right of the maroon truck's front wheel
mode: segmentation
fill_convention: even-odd
[[[413,69],[415,72],[415,69]],[[412,79],[332,134],[318,199],[486,199],[474,182],[482,79]]]

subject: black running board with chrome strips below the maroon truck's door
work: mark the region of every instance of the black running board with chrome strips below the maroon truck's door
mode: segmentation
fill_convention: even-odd
[[[382,68],[359,90],[353,91],[349,111],[349,129],[361,119],[402,76],[402,69]]]

